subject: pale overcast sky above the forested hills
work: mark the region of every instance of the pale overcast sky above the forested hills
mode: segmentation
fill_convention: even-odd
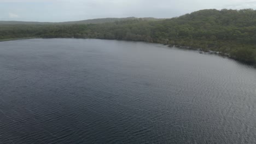
[[[0,21],[171,18],[201,9],[256,9],[256,0],[0,0]]]

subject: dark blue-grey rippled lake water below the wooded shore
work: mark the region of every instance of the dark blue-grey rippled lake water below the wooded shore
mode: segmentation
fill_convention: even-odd
[[[0,143],[256,143],[256,69],[159,44],[0,43]]]

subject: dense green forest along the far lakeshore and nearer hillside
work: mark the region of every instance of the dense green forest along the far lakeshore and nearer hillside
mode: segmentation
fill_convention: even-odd
[[[135,19],[89,25],[1,25],[0,39],[98,38],[147,41],[216,51],[256,63],[256,10],[200,10],[172,19]]]

